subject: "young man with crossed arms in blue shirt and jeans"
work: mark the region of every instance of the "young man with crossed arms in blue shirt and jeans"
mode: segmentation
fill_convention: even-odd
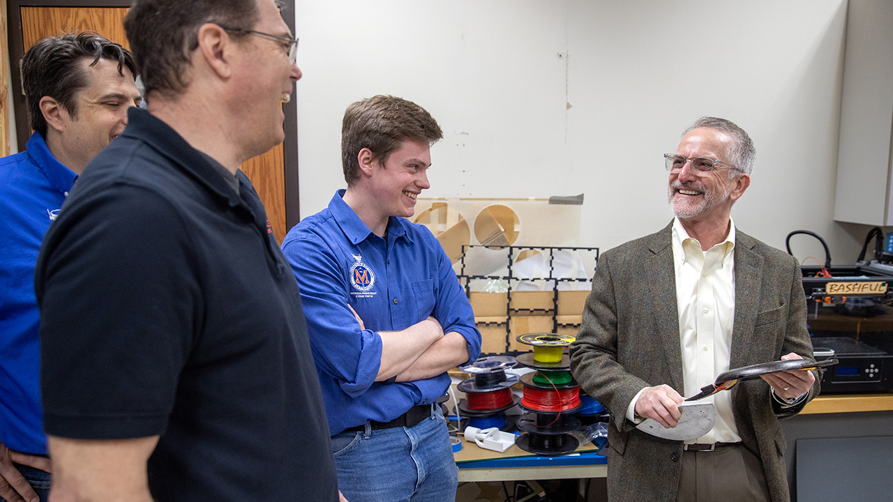
[[[455,499],[438,397],[480,354],[471,305],[438,240],[412,216],[429,188],[428,112],[373,96],[342,126],[346,190],[288,232],[329,417],[338,486],[351,502]]]

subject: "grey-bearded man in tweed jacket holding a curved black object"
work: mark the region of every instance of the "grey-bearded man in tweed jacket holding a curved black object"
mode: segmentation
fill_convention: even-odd
[[[646,418],[675,426],[683,395],[720,372],[813,356],[796,259],[730,218],[754,153],[734,123],[698,120],[665,155],[676,219],[599,258],[570,354],[582,389],[613,415],[613,502],[789,499],[778,421],[817,394],[812,372],[773,373],[706,398],[717,423],[688,444],[635,429]]]

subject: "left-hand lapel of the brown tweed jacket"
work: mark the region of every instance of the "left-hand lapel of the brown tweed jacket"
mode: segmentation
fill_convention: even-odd
[[[649,312],[655,316],[657,343],[651,352],[657,357],[665,358],[671,373],[667,375],[667,383],[681,392],[682,349],[679,339],[679,305],[676,305],[676,272],[672,263],[672,222],[651,235],[647,246],[649,252],[645,254],[642,266],[648,272],[648,297],[652,298],[654,305],[642,307],[644,311],[650,308]]]

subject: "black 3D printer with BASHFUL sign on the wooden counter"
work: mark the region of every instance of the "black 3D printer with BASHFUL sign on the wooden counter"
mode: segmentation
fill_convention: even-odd
[[[797,230],[788,239],[796,233],[819,238],[826,253],[824,265],[801,266],[815,359],[839,359],[824,372],[822,393],[893,390],[893,266],[882,263],[880,229],[869,232],[855,265],[833,267],[821,237]],[[875,258],[864,260],[872,237]]]

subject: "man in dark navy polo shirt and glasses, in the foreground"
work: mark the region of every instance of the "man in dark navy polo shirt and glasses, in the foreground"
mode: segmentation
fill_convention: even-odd
[[[273,0],[136,1],[148,112],[38,259],[58,500],[338,499],[294,275],[238,166],[280,143],[297,41]]]

